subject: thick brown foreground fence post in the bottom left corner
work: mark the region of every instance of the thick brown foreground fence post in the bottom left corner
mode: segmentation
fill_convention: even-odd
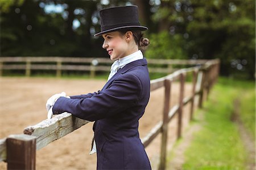
[[[36,137],[20,134],[6,139],[7,169],[35,169]]]

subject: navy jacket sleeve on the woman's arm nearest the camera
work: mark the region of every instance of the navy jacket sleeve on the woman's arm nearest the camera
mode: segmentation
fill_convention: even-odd
[[[108,89],[89,98],[60,97],[53,105],[53,114],[65,111],[88,121],[111,117],[134,106],[141,98],[142,84],[134,74],[122,74]]]

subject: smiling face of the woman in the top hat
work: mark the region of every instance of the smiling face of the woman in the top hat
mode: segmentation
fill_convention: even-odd
[[[102,48],[108,51],[111,60],[117,60],[128,55],[129,44],[125,36],[122,36],[118,31],[103,34],[102,37],[104,38]]]

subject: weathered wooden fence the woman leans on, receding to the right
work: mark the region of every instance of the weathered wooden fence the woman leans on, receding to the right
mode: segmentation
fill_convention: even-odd
[[[200,67],[180,69],[168,76],[151,81],[150,91],[164,87],[163,121],[155,125],[142,139],[144,147],[162,133],[159,169],[166,168],[168,123],[177,114],[177,139],[182,136],[181,128],[183,107],[191,103],[190,119],[193,117],[195,97],[199,96],[199,107],[203,99],[207,98],[210,89],[218,77],[220,61],[208,60]],[[192,73],[192,95],[184,98],[184,85],[187,74]],[[174,81],[180,82],[179,104],[170,108],[170,92]],[[40,150],[53,140],[62,138],[70,132],[80,128],[88,121],[73,117],[70,113],[56,115],[52,119],[44,120],[34,126],[24,128],[23,134],[10,135],[0,140],[0,161],[7,162],[7,169],[35,169],[36,150]]]

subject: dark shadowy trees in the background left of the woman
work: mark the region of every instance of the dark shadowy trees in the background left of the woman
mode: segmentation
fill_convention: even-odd
[[[92,38],[90,34],[90,28],[99,27],[92,24],[92,14],[97,11],[98,1],[0,2],[5,7],[1,10],[1,56],[106,55],[101,47],[102,40]],[[61,6],[63,11],[46,12],[44,7],[47,5]],[[75,13],[77,9],[82,12]],[[75,19],[79,19],[81,25],[76,29],[73,28]]]

